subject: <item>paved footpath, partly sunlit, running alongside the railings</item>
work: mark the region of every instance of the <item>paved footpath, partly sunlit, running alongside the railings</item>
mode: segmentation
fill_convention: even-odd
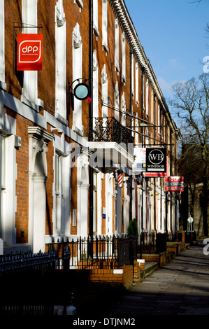
[[[102,307],[97,298],[94,316],[209,315],[209,255],[203,253],[204,247],[203,241],[189,246],[129,290],[114,298],[106,295]]]

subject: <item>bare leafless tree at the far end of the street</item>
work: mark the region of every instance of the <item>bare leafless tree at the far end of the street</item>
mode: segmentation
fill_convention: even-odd
[[[174,99],[168,103],[180,121],[180,163],[185,166],[188,180],[190,177],[190,180],[201,179],[203,182],[203,230],[208,235],[209,74],[176,83],[172,89]]]

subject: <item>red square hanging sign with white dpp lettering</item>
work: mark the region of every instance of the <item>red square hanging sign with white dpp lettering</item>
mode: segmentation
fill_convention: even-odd
[[[17,71],[42,70],[43,34],[17,34]]]

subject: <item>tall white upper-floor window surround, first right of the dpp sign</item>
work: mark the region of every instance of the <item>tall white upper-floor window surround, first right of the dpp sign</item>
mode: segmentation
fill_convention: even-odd
[[[55,116],[66,122],[66,20],[62,0],[55,7],[55,66],[56,104]]]

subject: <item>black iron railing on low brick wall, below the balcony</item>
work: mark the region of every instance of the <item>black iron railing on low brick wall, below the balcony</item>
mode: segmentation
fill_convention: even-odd
[[[69,268],[108,268],[133,264],[137,258],[138,239],[136,237],[80,237],[66,242],[52,242],[48,248],[55,248],[56,258],[62,258],[63,250],[70,251]]]

